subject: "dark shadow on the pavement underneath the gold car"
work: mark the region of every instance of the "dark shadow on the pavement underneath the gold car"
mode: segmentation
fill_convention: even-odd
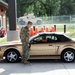
[[[32,60],[28,60],[30,63],[67,63],[67,62],[63,62],[61,59],[32,59]],[[0,63],[9,63],[7,62],[5,59],[4,60],[0,60]],[[17,62],[15,63],[21,63],[21,59],[19,59]],[[71,63],[75,63],[71,62]]]

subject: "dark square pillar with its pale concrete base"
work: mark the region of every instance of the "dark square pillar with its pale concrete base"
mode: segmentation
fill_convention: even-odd
[[[16,0],[8,0],[9,31],[7,31],[7,41],[19,40],[19,31],[16,30]]]

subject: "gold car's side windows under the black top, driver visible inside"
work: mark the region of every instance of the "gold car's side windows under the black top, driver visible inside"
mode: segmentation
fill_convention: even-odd
[[[33,44],[60,42],[55,35],[41,35],[31,41]]]

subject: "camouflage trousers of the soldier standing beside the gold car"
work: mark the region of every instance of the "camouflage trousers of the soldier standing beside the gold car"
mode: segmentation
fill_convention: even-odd
[[[24,60],[28,60],[29,57],[30,57],[30,48],[28,47],[27,44],[22,44],[22,49],[23,49],[23,52],[22,52],[22,61]]]

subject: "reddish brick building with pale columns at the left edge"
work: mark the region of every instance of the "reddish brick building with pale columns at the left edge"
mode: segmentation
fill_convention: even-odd
[[[6,10],[8,4],[3,0],[0,0],[0,28],[3,27],[6,30]]]

